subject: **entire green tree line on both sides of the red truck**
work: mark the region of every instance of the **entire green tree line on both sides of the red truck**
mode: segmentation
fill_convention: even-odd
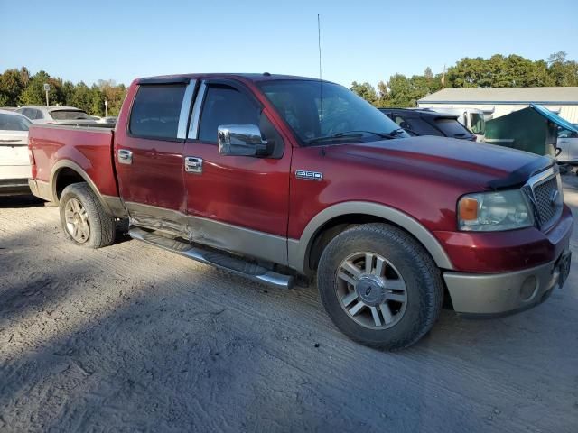
[[[44,84],[50,85],[51,106],[76,106],[90,115],[118,115],[126,96],[126,87],[114,80],[98,80],[89,87],[51,77],[41,70],[31,76],[28,69],[7,69],[0,75],[0,106],[44,105]],[[378,88],[368,82],[353,81],[350,89],[378,107],[416,106],[417,101],[442,88],[527,88],[544,86],[578,86],[578,62],[567,60],[559,51],[547,60],[530,60],[516,54],[495,54],[456,62],[445,72],[433,74],[429,67],[423,75],[403,74],[379,81]]]

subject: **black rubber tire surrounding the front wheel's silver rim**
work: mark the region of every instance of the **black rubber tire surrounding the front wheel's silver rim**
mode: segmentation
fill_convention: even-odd
[[[352,297],[365,290],[365,288],[362,290],[359,284],[350,285],[341,281],[342,277],[338,278],[338,272],[344,269],[341,265],[345,263],[345,259],[355,257],[361,252],[376,254],[376,257],[387,259],[388,263],[384,265],[384,268],[394,269],[393,272],[398,273],[404,283],[405,291],[402,292],[405,293],[406,301],[399,304],[393,300],[391,301],[393,304],[388,304],[389,300],[386,301],[388,305],[398,306],[397,314],[401,312],[396,320],[391,320],[389,317],[390,327],[382,328],[376,325],[372,328],[359,324],[359,318],[354,317],[360,313],[350,315],[346,312],[349,307],[346,307],[343,301],[346,297],[340,300],[339,290],[343,290],[344,284],[345,290],[350,290],[349,296]],[[374,259],[371,260],[372,263],[377,263],[377,259],[375,259],[376,262],[373,262]],[[365,275],[370,275],[370,273]],[[359,280],[356,281],[359,282]],[[384,281],[391,282],[392,280],[384,277]],[[355,226],[335,236],[322,253],[317,271],[317,283],[323,307],[343,334],[363,345],[387,350],[403,349],[415,344],[433,327],[443,305],[442,276],[433,263],[432,257],[412,236],[387,224],[372,223]],[[352,290],[354,287],[359,290]],[[372,288],[369,287],[368,290],[365,290],[366,295],[368,292],[371,293]],[[353,294],[353,291],[356,294]],[[365,299],[359,296],[351,302],[357,303],[359,300]],[[402,306],[405,307],[402,309]],[[377,306],[378,309],[380,307],[380,305]],[[361,309],[368,310],[372,314],[374,312],[365,305],[365,302]],[[381,325],[385,327],[387,323],[385,316],[381,316],[381,319],[383,320]]]

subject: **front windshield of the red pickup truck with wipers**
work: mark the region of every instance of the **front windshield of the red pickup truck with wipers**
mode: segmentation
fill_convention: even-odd
[[[303,145],[408,137],[375,106],[337,84],[275,80],[261,90]]]

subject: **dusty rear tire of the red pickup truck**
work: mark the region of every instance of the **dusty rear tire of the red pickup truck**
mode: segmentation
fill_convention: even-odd
[[[81,239],[79,239],[80,236],[75,238],[73,235],[74,229],[72,227],[74,225],[67,223],[67,205],[73,207],[76,203],[79,203],[81,209],[84,209],[82,217],[86,220],[85,226],[89,227],[88,235],[81,236]],[[87,183],[73,183],[66,187],[61,194],[60,210],[62,230],[71,243],[86,248],[101,248],[115,242],[115,218],[107,213],[107,210],[102,206],[97,195]],[[79,213],[77,212],[74,215],[76,216],[77,214]]]

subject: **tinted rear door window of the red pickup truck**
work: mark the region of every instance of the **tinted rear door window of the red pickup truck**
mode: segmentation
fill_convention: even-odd
[[[141,86],[130,113],[130,134],[144,138],[177,138],[184,90],[184,86],[172,84]]]

